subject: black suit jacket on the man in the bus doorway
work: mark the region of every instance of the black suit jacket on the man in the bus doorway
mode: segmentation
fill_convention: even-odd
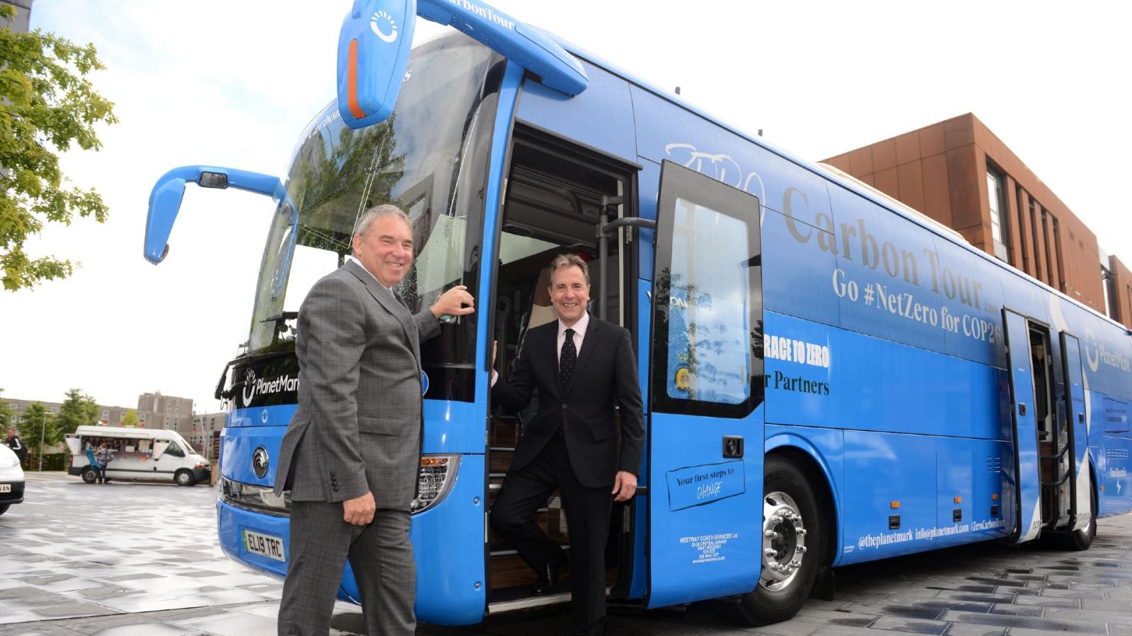
[[[574,473],[585,488],[611,487],[617,471],[637,474],[644,415],[629,332],[591,316],[568,387],[558,377],[557,349],[558,320],[530,329],[511,381],[500,378],[491,389],[505,409],[521,411],[539,387],[539,409],[523,427],[512,470],[531,463],[560,423]],[[620,445],[615,401],[621,407]]]

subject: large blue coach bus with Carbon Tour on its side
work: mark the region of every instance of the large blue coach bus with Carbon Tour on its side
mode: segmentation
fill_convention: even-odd
[[[1123,326],[478,0],[362,5],[338,100],[284,177],[186,166],[151,196],[154,263],[186,183],[276,201],[247,351],[217,386],[231,558],[285,571],[288,499],[271,488],[301,381],[297,310],[384,203],[413,222],[413,309],[454,284],[479,308],[423,350],[423,621],[567,600],[533,596],[487,524],[523,419],[491,404],[491,343],[508,373],[555,318],[563,251],[591,259],[593,312],[634,333],[646,397],[641,488],[607,549],[614,599],[724,599],[773,622],[830,593],[839,566],[987,540],[1081,550],[1098,517],[1132,509]],[[413,14],[455,29],[410,53]],[[568,543],[557,497],[538,522]],[[355,595],[348,566],[341,598]]]

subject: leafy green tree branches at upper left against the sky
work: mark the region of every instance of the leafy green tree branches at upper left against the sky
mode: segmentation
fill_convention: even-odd
[[[104,68],[94,45],[40,29],[12,33],[8,25],[15,17],[15,8],[0,5],[0,282],[10,291],[74,273],[70,260],[29,258],[24,242],[44,223],[70,225],[76,212],[106,220],[93,188],[65,187],[55,153],[72,144],[101,148],[94,126],[118,121],[113,104],[86,79]]]

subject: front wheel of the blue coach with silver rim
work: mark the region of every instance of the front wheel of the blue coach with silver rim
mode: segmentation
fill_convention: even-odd
[[[825,555],[817,493],[786,457],[766,457],[763,476],[763,548],[758,584],[732,607],[743,621],[770,625],[798,613]]]

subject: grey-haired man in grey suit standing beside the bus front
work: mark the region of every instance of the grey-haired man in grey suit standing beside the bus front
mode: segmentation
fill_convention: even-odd
[[[421,444],[420,343],[444,315],[474,311],[468,289],[415,316],[393,292],[413,258],[412,224],[392,205],[357,223],[353,258],[299,311],[299,407],[283,436],[275,493],[291,490],[281,636],[325,636],[346,558],[367,631],[412,634],[417,570],[409,506]]]

